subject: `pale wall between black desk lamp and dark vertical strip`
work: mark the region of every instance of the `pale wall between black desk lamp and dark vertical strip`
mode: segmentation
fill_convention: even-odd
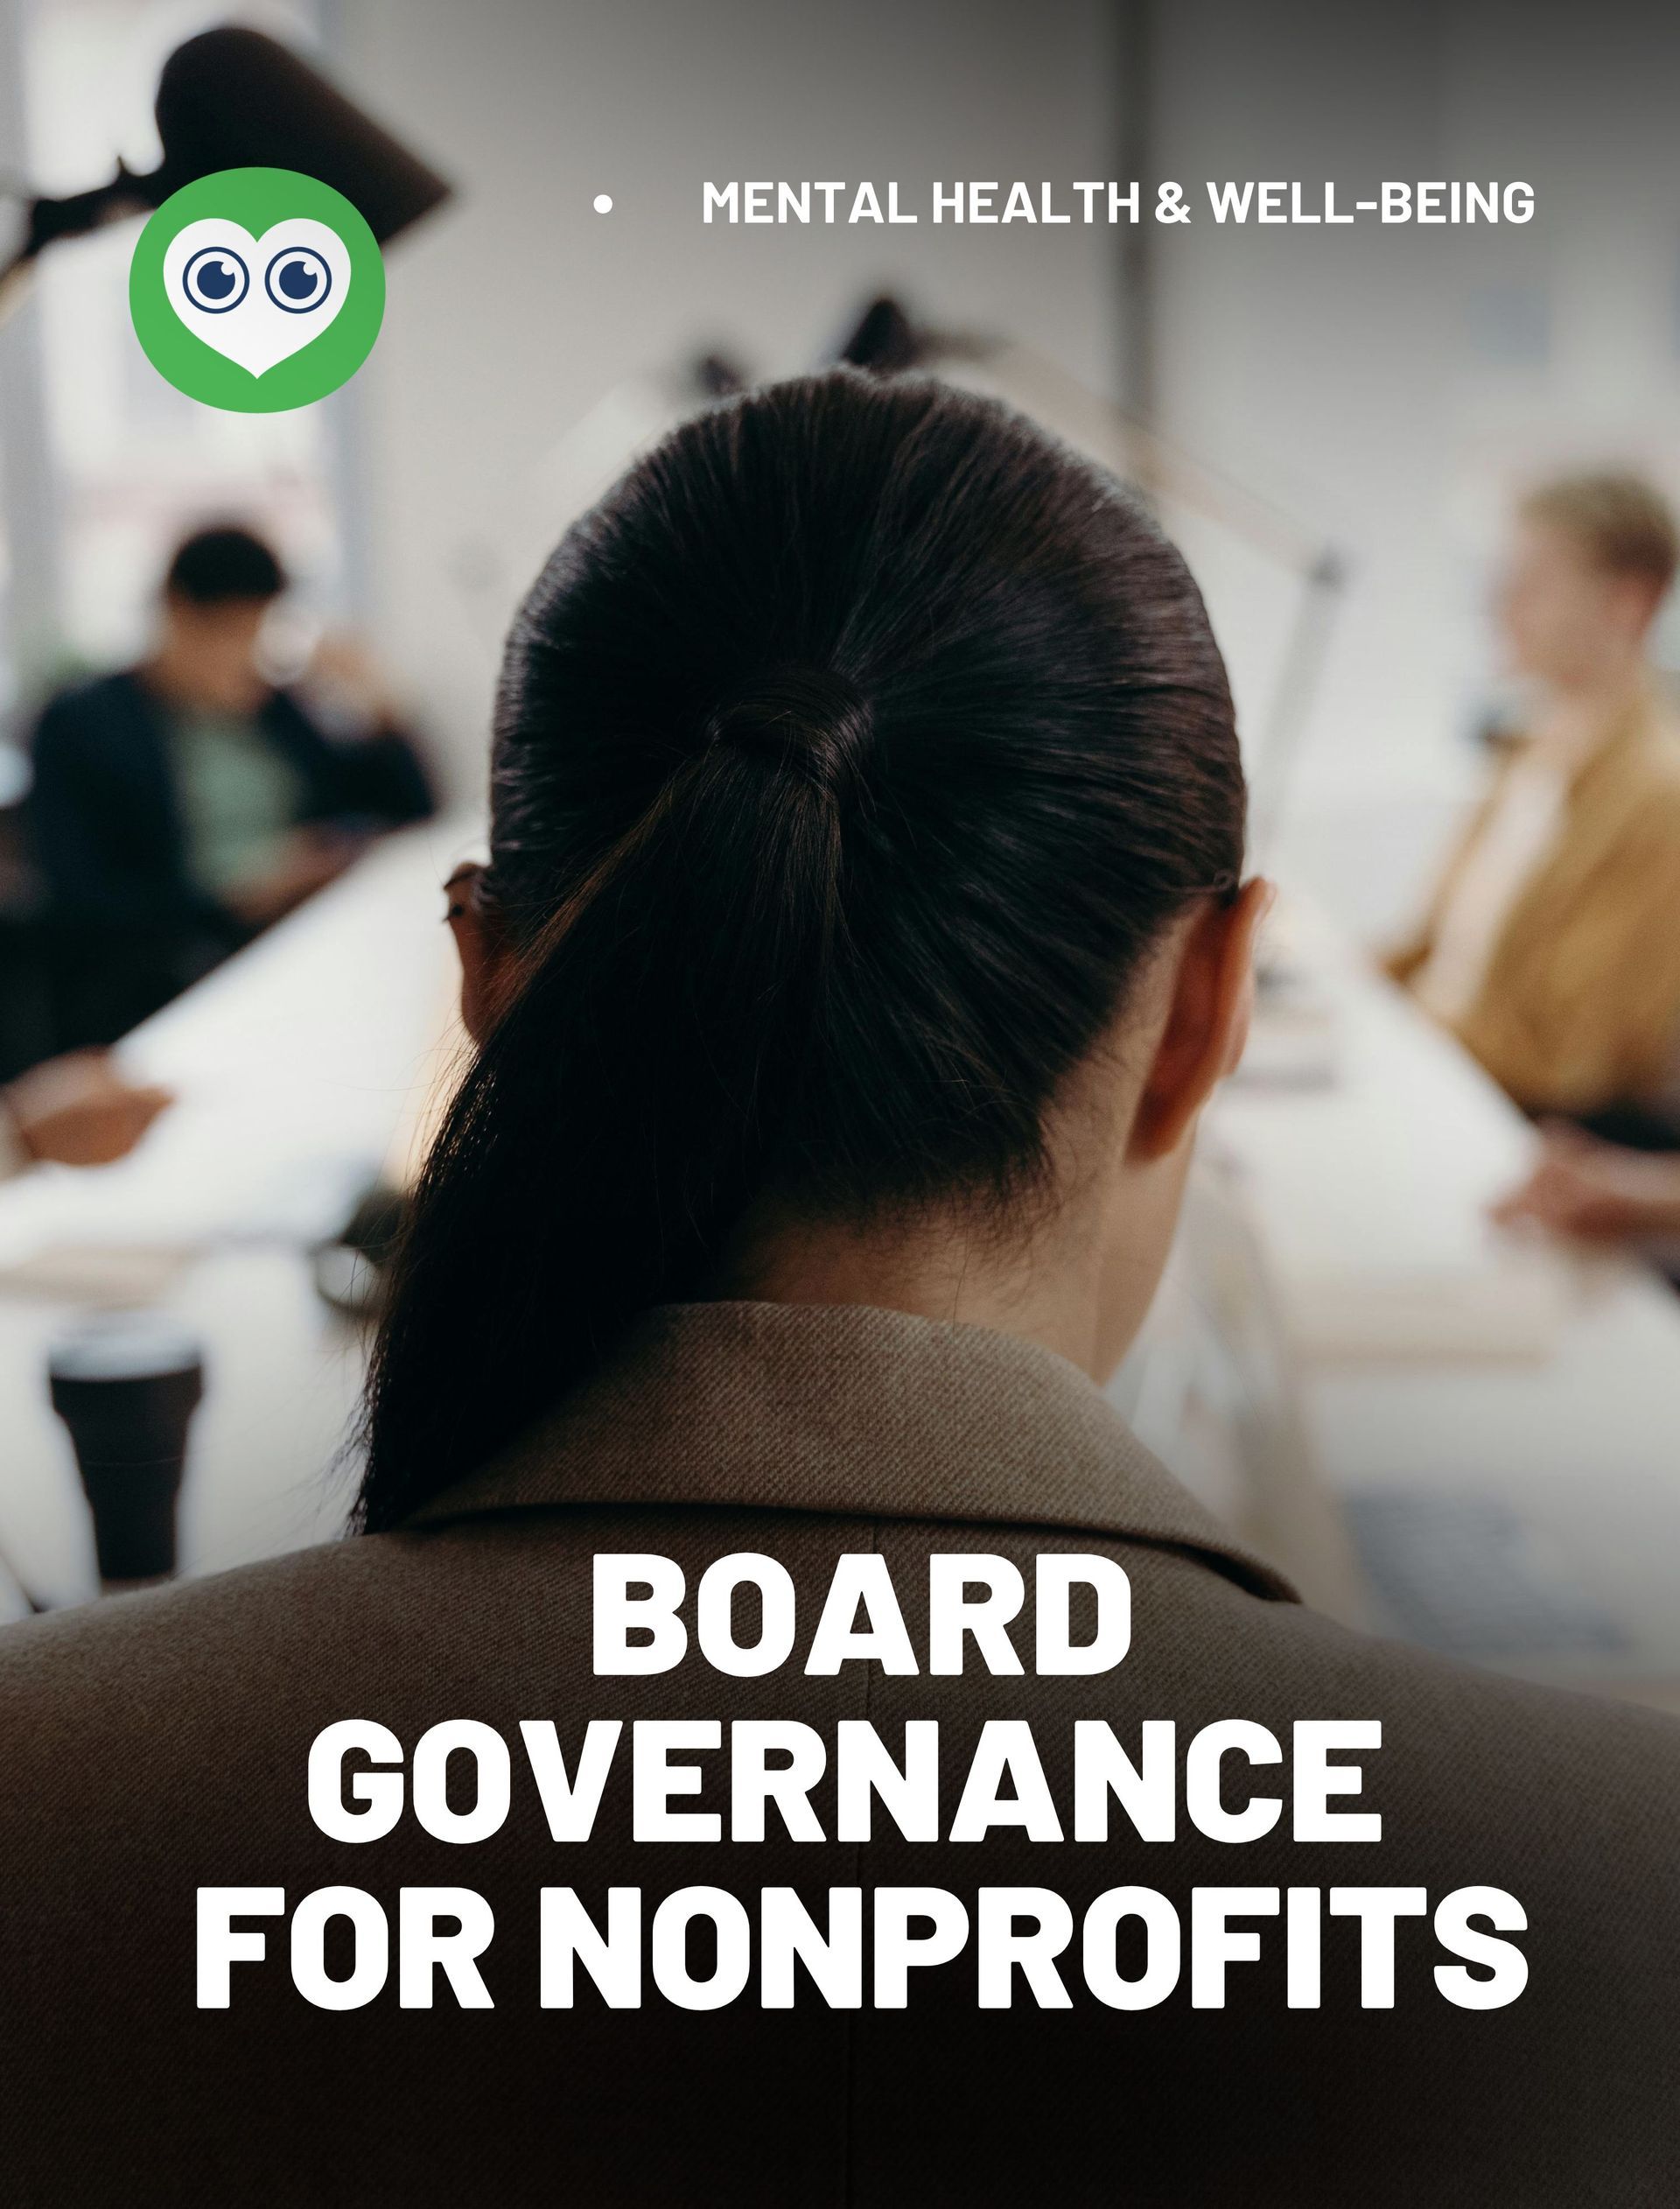
[[[702,228],[702,179],[1110,177],[1104,0],[342,0],[351,88],[459,183],[402,241],[360,418],[380,641],[479,773],[495,645],[550,519],[543,455],[702,347],[815,364],[892,285],[1108,380],[1106,228]],[[609,192],[614,212],[592,212]],[[556,535],[565,512],[552,515]],[[510,552],[510,548],[519,548]]]

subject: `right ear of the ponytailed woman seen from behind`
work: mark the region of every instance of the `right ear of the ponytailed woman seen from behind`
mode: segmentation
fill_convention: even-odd
[[[1230,906],[1203,906],[1185,930],[1128,1140],[1135,1160],[1177,1151],[1214,1085],[1236,1071],[1254,1012],[1254,937],[1276,895],[1256,875]]]

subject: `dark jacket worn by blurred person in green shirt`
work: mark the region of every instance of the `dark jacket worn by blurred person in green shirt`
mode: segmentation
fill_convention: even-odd
[[[272,694],[258,725],[298,778],[296,826],[391,828],[433,808],[426,775],[395,733],[333,742],[287,691]],[[53,698],[33,762],[26,820],[57,979],[57,1045],[113,1043],[249,930],[192,881],[166,727],[137,672]]]

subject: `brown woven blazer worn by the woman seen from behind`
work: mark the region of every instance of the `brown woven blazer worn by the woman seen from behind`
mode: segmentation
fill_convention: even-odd
[[[1583,1467],[1585,1476],[1587,1467]],[[799,1593],[795,1663],[759,1679],[678,1670],[594,1679],[596,1551],[781,1560]],[[806,1677],[834,1560],[887,1560],[923,1670]],[[1133,1648],[1110,1672],[927,1674],[932,1551],[1013,1560],[1095,1551],[1133,1584]],[[1031,1593],[1029,1593],[1031,1610]],[[751,1626],[737,1626],[751,1639]],[[384,1840],[327,1840],[305,1758],[336,1719],[404,1747],[472,1716],[514,1747],[508,1825],[475,1847],[404,1814]],[[1378,1847],[1139,1840],[634,1845],[627,1741],[587,1842],[556,1842],[519,1721],[552,1719],[576,1758],[592,1716],[793,1716],[828,1743],[868,1716],[901,1752],[938,1719],[943,1825],[985,1719],[1031,1719],[1071,1831],[1068,1745],[1106,1719],[1188,1734],[1214,1719],[1278,1732],[1380,1719],[1362,1809]],[[879,1310],[684,1306],[649,1314],[614,1370],[413,1529],[0,1635],[0,2194],[7,2202],[1671,2202],[1676,1816],[1680,1732],[1651,1714],[1543,1694],[1314,1617],[1133,1440],[1071,1365],[1020,1341]],[[724,1756],[700,1756],[729,1814]],[[1287,1769],[1287,1767],[1285,1767]],[[1227,1767],[1232,1805],[1269,1772]],[[834,1833],[828,1778],[812,1791]],[[464,1884],[495,1909],[495,2008],[327,2012],[294,1990],[285,1926],[234,1966],[227,2010],[194,2008],[196,1884],[322,1884],[378,1895]],[[1428,1920],[1402,1920],[1397,1999],[1362,2010],[1358,1926],[1325,1920],[1325,1995],[1291,2010],[1280,1920],[1232,1966],[1225,2008],[1185,1979],[1141,2012],[1091,1999],[1077,1917],[1117,1884],[1464,1884],[1528,1911],[1528,1993],[1453,2008]],[[689,2012],[651,1986],[612,2010],[536,2001],[543,1884],[605,1922],[607,1889],[656,1898],[797,1884],[936,1884],[969,1911],[993,1884],[1075,1911],[1071,2008],[978,2010],[974,1953],[912,1975],[903,2010]],[[333,1970],[347,1964],[331,1964]],[[695,1973],[706,1966],[695,1955]],[[1133,1964],[1124,1964],[1133,1970]]]

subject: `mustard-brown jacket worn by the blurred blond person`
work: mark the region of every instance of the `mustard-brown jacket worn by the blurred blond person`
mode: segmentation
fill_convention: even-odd
[[[1422,930],[1391,959],[1428,959],[1510,762],[1475,811]],[[1570,786],[1563,831],[1523,888],[1457,1036],[1525,1111],[1592,1113],[1673,1082],[1680,1060],[1680,736],[1627,716]]]

